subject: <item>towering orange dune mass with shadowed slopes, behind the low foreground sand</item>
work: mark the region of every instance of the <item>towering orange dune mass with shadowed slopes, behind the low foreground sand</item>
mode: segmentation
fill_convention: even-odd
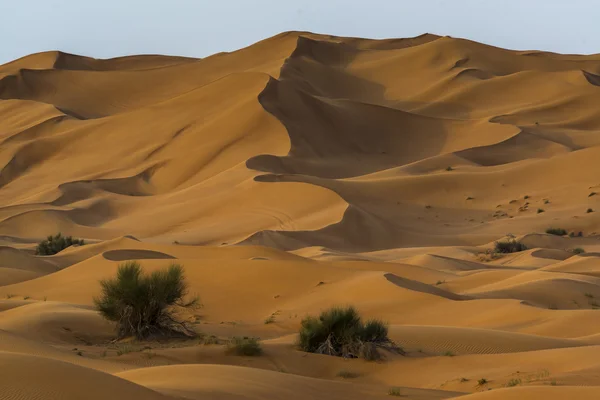
[[[600,144],[599,69],[433,35],[26,57],[0,68],[0,233],[342,251],[593,233],[572,217],[597,184],[578,165]],[[524,195],[553,201],[534,216],[509,204]]]

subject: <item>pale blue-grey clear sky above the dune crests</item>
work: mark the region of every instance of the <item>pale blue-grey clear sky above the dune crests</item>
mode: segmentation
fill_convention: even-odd
[[[287,30],[600,53],[598,0],[0,0],[0,15],[0,63],[45,50],[205,57]]]

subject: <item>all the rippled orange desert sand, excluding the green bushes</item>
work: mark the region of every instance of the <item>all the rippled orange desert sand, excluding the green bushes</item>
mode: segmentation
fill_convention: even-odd
[[[0,399],[600,398],[600,56],[287,32],[34,54],[0,99]],[[36,256],[57,232],[88,244]],[[114,342],[93,298],[128,260],[182,264],[195,329],[264,355]],[[299,351],[334,305],[406,355]]]

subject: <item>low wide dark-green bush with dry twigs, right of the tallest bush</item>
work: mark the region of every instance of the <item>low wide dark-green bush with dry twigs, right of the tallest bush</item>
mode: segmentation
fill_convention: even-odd
[[[298,345],[309,353],[378,360],[379,348],[401,352],[388,337],[388,327],[372,319],[363,322],[354,307],[333,307],[319,317],[302,320]]]

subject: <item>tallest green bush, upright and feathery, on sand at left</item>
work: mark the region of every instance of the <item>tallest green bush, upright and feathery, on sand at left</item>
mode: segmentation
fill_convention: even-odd
[[[144,274],[140,264],[131,261],[119,266],[115,278],[102,280],[100,285],[102,294],[94,302],[104,318],[117,323],[119,338],[195,336],[189,324],[178,321],[175,314],[176,307],[194,307],[198,301],[184,302],[188,286],[180,265]]]

